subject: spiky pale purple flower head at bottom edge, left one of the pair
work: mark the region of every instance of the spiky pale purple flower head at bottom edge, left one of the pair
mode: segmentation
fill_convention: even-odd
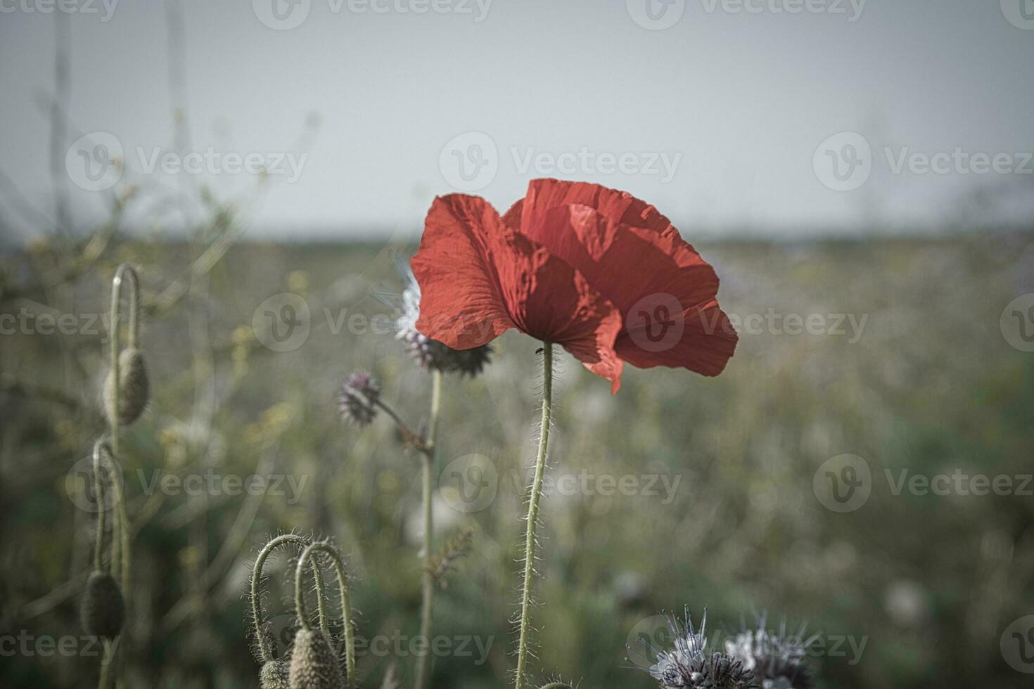
[[[668,617],[668,627],[675,639],[674,649],[664,651],[643,641],[657,659],[643,669],[662,689],[757,689],[754,674],[741,661],[720,652],[706,653],[706,609],[699,629],[694,629],[688,606],[682,620]]]

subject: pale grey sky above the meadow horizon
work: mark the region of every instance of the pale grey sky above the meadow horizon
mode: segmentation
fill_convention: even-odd
[[[0,0],[0,170],[43,212],[56,2]],[[277,173],[260,237],[417,232],[435,194],[505,209],[543,176],[687,236],[940,226],[980,189],[985,219],[1034,218],[1034,0],[186,0],[187,157],[168,3],[60,2],[81,223],[96,186],[231,194],[248,161]],[[0,220],[33,231],[7,184]]]

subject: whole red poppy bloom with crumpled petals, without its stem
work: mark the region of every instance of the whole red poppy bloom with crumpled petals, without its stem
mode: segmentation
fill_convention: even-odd
[[[535,180],[501,218],[478,196],[435,198],[412,263],[427,337],[469,349],[516,327],[561,345],[614,393],[624,362],[713,376],[736,348],[714,270],[622,191]]]

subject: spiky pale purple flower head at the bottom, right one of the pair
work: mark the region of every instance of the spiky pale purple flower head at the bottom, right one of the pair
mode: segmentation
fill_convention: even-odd
[[[726,639],[726,653],[742,661],[762,689],[813,689],[815,677],[805,658],[815,637],[804,637],[805,625],[793,634],[787,633],[785,620],[779,630],[769,630],[766,621],[761,616],[754,628],[741,625],[737,634]]]

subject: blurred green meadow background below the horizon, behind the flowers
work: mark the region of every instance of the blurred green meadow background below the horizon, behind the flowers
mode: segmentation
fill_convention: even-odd
[[[257,546],[283,531],[341,545],[361,636],[416,634],[418,458],[387,419],[357,429],[336,405],[344,378],[368,369],[403,416],[426,418],[430,377],[384,327],[413,247],[231,246],[218,228],[127,243],[108,229],[3,258],[0,312],[29,325],[0,338],[0,632],[35,650],[3,649],[0,685],[94,682],[95,657],[31,639],[82,633],[92,513],[77,506],[74,467],[103,432],[107,373],[108,334],[92,319],[126,260],[141,271],[153,386],[119,458],[135,528],[127,686],[257,686],[243,594]],[[1018,233],[698,246],[742,324],[723,375],[629,368],[611,397],[561,354],[537,677],[656,686],[628,667],[630,634],[689,604],[719,631],[754,612],[807,621],[825,648],[812,660],[822,687],[1025,686],[1000,641],[1034,612],[1034,499],[895,484],[903,470],[1032,472],[1034,354],[1000,328],[1005,306],[1034,291],[1031,247]],[[308,317],[278,312],[299,304],[283,293]],[[262,327],[267,311],[297,316],[307,337],[266,346],[284,348]],[[50,333],[44,314],[74,324]],[[436,538],[470,529],[473,546],[437,596],[434,633],[457,652],[435,660],[434,687],[510,677],[538,346],[508,334],[483,375],[445,381]],[[820,467],[845,453],[868,464],[871,494],[838,512],[820,499]],[[480,493],[462,484],[468,456],[481,458]],[[234,490],[255,475],[272,477],[268,492]],[[286,562],[274,558],[266,599],[281,637]],[[393,664],[412,684],[413,661],[404,648],[361,653],[362,686]]]

